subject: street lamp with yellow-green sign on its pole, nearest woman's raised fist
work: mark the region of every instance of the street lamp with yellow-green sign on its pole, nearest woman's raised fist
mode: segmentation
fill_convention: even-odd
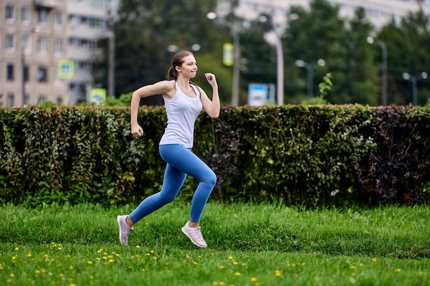
[[[238,21],[234,21],[233,23],[227,22],[224,19],[218,18],[215,12],[209,12],[206,14],[207,19],[215,20],[218,19],[218,22],[225,27],[230,29],[231,36],[233,36],[233,85],[231,86],[232,95],[231,95],[231,104],[237,105],[239,104],[239,77],[240,77],[240,38],[239,38],[239,30],[240,25]]]

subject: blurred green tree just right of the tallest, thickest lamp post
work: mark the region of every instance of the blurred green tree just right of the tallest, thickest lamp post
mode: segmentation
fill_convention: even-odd
[[[348,95],[340,89],[345,80],[346,47],[342,45],[345,25],[339,19],[339,8],[330,5],[326,0],[313,0],[310,10],[301,6],[293,6],[288,14],[288,28],[284,35],[285,62],[289,65],[286,76],[287,82],[297,82],[291,88],[286,88],[288,97],[306,94],[308,83],[306,78],[313,71],[312,94],[317,92],[315,81],[321,82],[328,71],[332,73],[333,88],[328,95],[332,103],[348,102]],[[319,59],[326,62],[326,66],[317,65]],[[295,67],[296,60],[309,64],[308,69]],[[320,61],[321,62],[321,61]],[[315,80],[317,79],[317,80]],[[299,92],[297,92],[299,91]],[[300,92],[301,91],[301,92]]]

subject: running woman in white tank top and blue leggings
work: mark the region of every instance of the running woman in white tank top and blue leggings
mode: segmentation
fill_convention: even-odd
[[[166,161],[163,186],[159,193],[143,200],[130,215],[118,215],[120,241],[127,246],[128,235],[133,224],[146,217],[161,206],[172,202],[177,197],[185,177],[190,175],[199,180],[191,204],[190,220],[181,228],[182,232],[196,246],[206,248],[207,243],[201,235],[199,226],[201,213],[216,183],[214,171],[191,152],[194,139],[194,123],[202,108],[207,115],[216,118],[220,113],[220,99],[215,75],[205,73],[207,82],[212,86],[212,100],[205,91],[190,82],[197,72],[196,59],[189,51],[181,51],[173,56],[172,66],[168,71],[168,80],[143,86],[133,93],[131,98],[131,134],[142,136],[144,130],[137,123],[139,102],[142,97],[163,95],[167,113],[167,128],[159,143],[159,153]]]

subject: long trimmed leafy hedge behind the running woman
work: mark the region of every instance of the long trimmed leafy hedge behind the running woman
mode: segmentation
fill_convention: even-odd
[[[194,152],[218,177],[211,200],[319,207],[423,204],[430,182],[427,107],[223,106],[196,122]],[[0,202],[138,202],[159,191],[166,163],[161,106],[0,109]],[[197,182],[187,178],[181,198]]]

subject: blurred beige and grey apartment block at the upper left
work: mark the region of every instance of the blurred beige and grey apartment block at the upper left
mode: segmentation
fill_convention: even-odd
[[[0,106],[88,102],[115,11],[111,0],[1,0]]]

